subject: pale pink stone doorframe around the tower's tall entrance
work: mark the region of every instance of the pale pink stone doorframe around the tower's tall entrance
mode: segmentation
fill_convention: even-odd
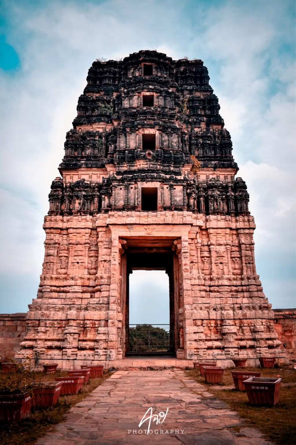
[[[111,284],[110,284],[110,303],[108,311],[108,332],[107,332],[107,347],[108,356],[120,358],[125,354],[123,343],[126,344],[126,291],[128,291],[127,283],[122,286],[122,263],[126,261],[126,248],[129,239],[141,240],[142,242],[162,240],[172,240],[172,250],[174,255],[174,332],[175,332],[175,347],[178,346],[178,356],[186,356],[191,358],[193,352],[186,352],[186,322],[185,322],[185,307],[184,298],[189,295],[188,283],[190,280],[185,279],[184,275],[189,275],[189,248],[188,248],[188,234],[191,224],[109,224],[111,230]],[[179,273],[177,273],[179,271]],[[127,274],[126,274],[127,275]],[[176,280],[176,281],[175,281]],[[177,288],[178,287],[178,288]],[[185,287],[185,288],[184,288]],[[191,291],[190,291],[191,295]],[[176,303],[178,301],[178,305]],[[180,310],[181,309],[181,310]],[[183,344],[183,348],[182,348]],[[190,348],[194,345],[191,342]],[[181,352],[180,352],[181,350]]]

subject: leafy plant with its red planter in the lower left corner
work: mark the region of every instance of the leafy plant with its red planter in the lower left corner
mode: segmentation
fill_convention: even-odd
[[[24,364],[11,361],[16,372],[3,373],[0,378],[0,420],[19,422],[28,417],[32,405],[31,362],[29,358]]]

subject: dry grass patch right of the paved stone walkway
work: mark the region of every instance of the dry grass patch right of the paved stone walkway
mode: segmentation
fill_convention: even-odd
[[[278,445],[294,445],[296,443],[296,370],[295,369],[265,369],[265,368],[237,368],[237,370],[253,370],[262,372],[262,377],[282,378],[282,384],[291,383],[291,386],[281,386],[280,400],[273,408],[265,406],[252,406],[249,404],[247,393],[235,389],[223,389],[223,386],[233,386],[230,369],[225,369],[223,380],[217,384],[205,383],[199,370],[187,371],[198,383],[210,389],[218,399],[227,403],[230,408],[245,419],[245,423],[259,429],[264,436]]]

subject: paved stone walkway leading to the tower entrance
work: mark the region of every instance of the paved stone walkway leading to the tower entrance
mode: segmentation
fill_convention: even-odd
[[[162,423],[152,417],[147,434],[149,419],[139,423],[150,407]],[[36,445],[272,445],[256,429],[233,430],[241,425],[236,412],[183,371],[118,371]]]

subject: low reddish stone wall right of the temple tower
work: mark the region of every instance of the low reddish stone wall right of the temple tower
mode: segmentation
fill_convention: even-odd
[[[290,360],[296,360],[296,309],[273,309],[274,329]]]

